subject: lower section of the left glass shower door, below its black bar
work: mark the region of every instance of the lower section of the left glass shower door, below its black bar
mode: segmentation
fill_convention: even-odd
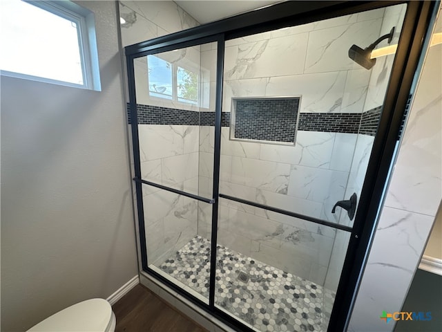
[[[212,205],[143,185],[148,267],[209,303]]]

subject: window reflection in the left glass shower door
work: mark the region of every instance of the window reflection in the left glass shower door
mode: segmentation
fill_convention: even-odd
[[[199,75],[191,68],[171,64],[155,55],[147,56],[149,95],[198,104]]]

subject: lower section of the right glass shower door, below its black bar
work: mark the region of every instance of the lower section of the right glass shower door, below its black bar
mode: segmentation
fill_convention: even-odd
[[[259,212],[220,200],[215,305],[257,331],[327,331],[349,233]]]

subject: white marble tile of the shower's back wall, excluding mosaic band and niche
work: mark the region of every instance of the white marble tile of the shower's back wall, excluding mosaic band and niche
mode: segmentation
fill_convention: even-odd
[[[361,113],[370,72],[349,60],[347,50],[379,36],[383,13],[364,12],[227,42],[222,111],[231,110],[233,97],[302,95],[303,113]],[[214,54],[202,48],[202,62]],[[210,163],[212,130],[200,130],[200,169]],[[356,139],[352,133],[298,131],[295,146],[267,145],[231,141],[229,128],[223,127],[220,191],[338,221],[339,214],[331,210],[344,198]],[[200,183],[211,182],[210,176],[202,177],[200,173]],[[220,216],[222,245],[324,284],[334,230],[227,200]],[[200,219],[199,234],[208,227]]]

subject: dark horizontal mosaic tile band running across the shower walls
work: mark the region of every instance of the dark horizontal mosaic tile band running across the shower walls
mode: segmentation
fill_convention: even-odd
[[[128,103],[126,111],[128,113],[128,124],[131,124],[131,112]],[[137,111],[139,124],[215,125],[215,112],[186,111],[142,104],[137,104]],[[361,133],[375,136],[379,120],[381,120],[381,113],[382,107],[376,107],[363,113],[299,113],[298,130]],[[222,112],[221,117],[222,127],[229,127],[230,112]],[[359,127],[360,124],[361,127]]]

